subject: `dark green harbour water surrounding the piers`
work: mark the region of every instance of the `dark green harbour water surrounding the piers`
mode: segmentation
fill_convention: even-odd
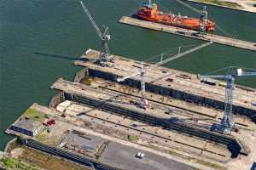
[[[135,13],[143,1],[84,0],[84,3],[99,26],[109,26],[112,34],[109,46],[114,54],[146,60],[180,45],[202,43],[117,23],[121,16]],[[163,10],[197,15],[173,0],[159,3]],[[233,37],[256,42],[256,14],[216,7],[208,7],[208,11],[210,18]],[[85,48],[99,49],[99,40],[79,1],[0,0],[0,150],[10,139],[3,132],[11,122],[33,102],[47,105],[55,94],[49,86],[58,77],[72,80],[80,69],[73,66],[73,59]],[[207,73],[228,65],[256,68],[256,53],[212,44],[166,66]],[[253,78],[237,82],[256,88]]]

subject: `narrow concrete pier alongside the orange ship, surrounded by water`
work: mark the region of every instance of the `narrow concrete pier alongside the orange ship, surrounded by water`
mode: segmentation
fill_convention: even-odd
[[[208,34],[208,33],[198,34],[198,33],[196,33],[196,31],[190,31],[187,29],[177,28],[174,26],[166,26],[166,25],[162,25],[159,23],[149,22],[146,20],[138,20],[138,19],[131,18],[128,16],[123,16],[119,20],[119,22],[128,24],[128,25],[132,25],[132,26],[141,26],[143,28],[149,28],[149,29],[157,30],[157,31],[165,31],[168,33],[177,34],[177,35],[184,36],[184,37],[192,37],[192,38],[196,38],[196,39],[200,39],[200,40],[217,42],[220,44],[229,45],[229,46],[236,47],[236,48],[244,48],[244,49],[256,51],[256,42],[247,42],[247,41],[242,41],[239,39],[234,39],[234,38],[230,38],[230,37],[222,37],[222,36]]]

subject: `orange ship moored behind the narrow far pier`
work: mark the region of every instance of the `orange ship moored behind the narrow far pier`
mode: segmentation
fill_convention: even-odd
[[[165,14],[158,10],[155,3],[143,3],[143,7],[137,10],[137,16],[143,20],[157,22],[168,26],[176,26],[194,31],[214,31],[215,23],[207,20],[207,10],[203,8],[200,19],[181,16],[180,14]]]

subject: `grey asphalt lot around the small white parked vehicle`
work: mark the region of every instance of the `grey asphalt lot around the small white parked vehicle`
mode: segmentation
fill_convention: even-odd
[[[103,152],[101,161],[108,163],[113,167],[119,167],[124,170],[192,170],[183,163],[173,161],[163,156],[142,151],[145,156],[143,159],[136,158],[138,151],[129,146],[111,142],[107,149]]]

